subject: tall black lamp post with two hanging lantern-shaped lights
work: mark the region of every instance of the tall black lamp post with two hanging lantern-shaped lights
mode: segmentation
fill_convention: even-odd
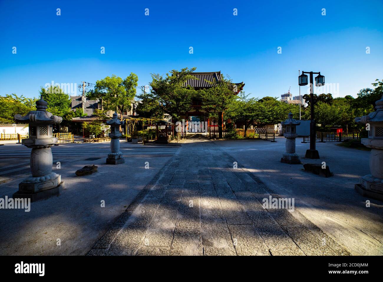
[[[315,120],[314,120],[314,79],[313,74],[318,74],[315,78],[315,86],[324,85],[324,76],[321,73],[313,73],[312,71],[302,71],[302,74],[298,76],[299,86],[305,86],[308,84],[307,75],[310,74],[310,110],[311,110],[311,121],[310,121],[310,149],[306,151],[306,158],[319,158],[318,150],[316,150],[316,129],[315,129]]]

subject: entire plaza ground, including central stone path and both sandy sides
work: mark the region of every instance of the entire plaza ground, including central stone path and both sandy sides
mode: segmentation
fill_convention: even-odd
[[[109,142],[54,146],[65,190],[29,213],[1,210],[0,254],[381,255],[382,203],[367,208],[353,186],[369,152],[317,143],[321,159],[307,160],[309,144],[297,139],[303,163],[326,161],[334,172],[324,178],[280,163],[285,139],[276,140],[121,142],[126,162],[116,166],[105,165]],[[29,150],[1,146],[2,197],[29,174]],[[93,163],[97,173],[74,176]],[[294,198],[293,211],[264,209],[270,197]]]

